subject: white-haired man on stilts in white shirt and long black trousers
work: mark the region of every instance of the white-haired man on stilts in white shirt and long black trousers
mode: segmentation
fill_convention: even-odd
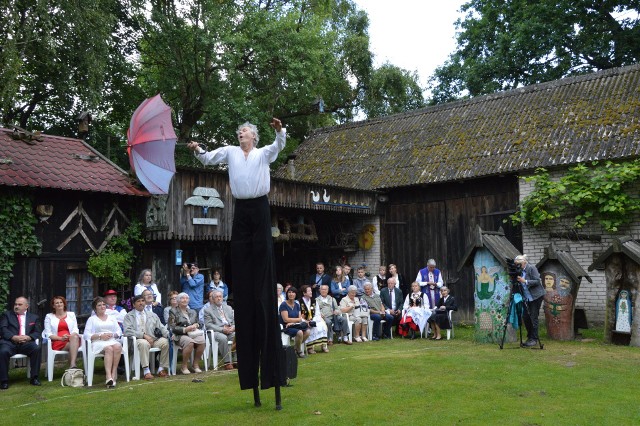
[[[280,400],[282,343],[276,309],[276,278],[271,237],[269,164],[286,144],[286,129],[277,118],[271,122],[276,140],[257,148],[255,125],[238,128],[240,146],[204,151],[196,142],[187,146],[204,165],[229,166],[235,212],[231,235],[231,268],[236,315],[236,349],[240,389],[253,389],[254,404],[261,406],[259,388],[274,387],[276,409]]]

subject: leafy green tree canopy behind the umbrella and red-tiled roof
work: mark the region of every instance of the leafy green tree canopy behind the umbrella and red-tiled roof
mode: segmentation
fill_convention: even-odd
[[[123,166],[113,146],[157,93],[179,142],[235,143],[244,121],[268,142],[276,116],[287,151],[313,128],[423,102],[415,75],[373,67],[369,20],[352,0],[4,0],[0,12],[3,124],[75,136],[89,111],[89,142],[104,152],[114,135]]]

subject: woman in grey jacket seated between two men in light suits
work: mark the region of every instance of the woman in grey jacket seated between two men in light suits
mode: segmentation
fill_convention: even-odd
[[[198,323],[198,312],[189,308],[187,293],[179,293],[178,306],[169,311],[169,329],[173,334],[173,341],[182,348],[182,374],[191,374],[189,361],[194,350],[191,368],[194,373],[202,373],[200,359],[205,348],[204,333]]]

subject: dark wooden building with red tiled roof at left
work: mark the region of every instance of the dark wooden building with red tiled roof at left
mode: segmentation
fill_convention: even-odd
[[[42,252],[16,259],[9,303],[27,296],[42,316],[52,296],[63,295],[87,317],[105,290],[87,271],[89,253],[144,211],[149,194],[82,140],[0,129],[0,196],[15,194],[33,206]]]

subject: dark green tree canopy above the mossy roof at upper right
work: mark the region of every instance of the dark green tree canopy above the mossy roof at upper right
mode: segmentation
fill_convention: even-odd
[[[638,0],[471,0],[457,48],[431,79],[433,102],[640,60]]]

